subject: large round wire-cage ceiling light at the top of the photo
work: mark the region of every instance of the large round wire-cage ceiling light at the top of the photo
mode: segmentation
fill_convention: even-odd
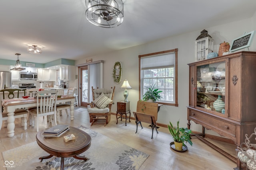
[[[122,0],[85,0],[85,16],[90,23],[104,28],[113,28],[124,20]]]

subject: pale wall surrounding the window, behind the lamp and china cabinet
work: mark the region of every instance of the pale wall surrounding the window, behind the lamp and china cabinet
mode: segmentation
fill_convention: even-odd
[[[194,41],[200,35],[203,29],[208,31],[208,34],[214,39],[214,52],[218,53],[219,44],[224,41],[231,43],[235,39],[247,33],[256,30],[256,14],[252,18],[246,20],[226,23],[214,27],[202,28],[190,33],[167,37],[158,41],[150,42],[144,45],[138,45],[127,49],[95,55],[93,61],[104,60],[104,88],[116,86],[114,102],[124,100],[123,89],[120,89],[123,80],[127,79],[132,86],[129,89],[128,100],[130,101],[131,111],[136,111],[136,103],[139,99],[139,70],[138,70],[138,55],[154,53],[178,48],[178,107],[162,106],[158,113],[158,123],[168,124],[169,121],[176,122],[180,120],[180,126],[186,127],[187,123],[187,108],[188,106],[188,84],[189,84],[189,67],[188,63],[194,62]],[[157,31],[157,30],[156,30]],[[124,40],[125,41],[125,40]],[[256,40],[253,41],[250,51],[256,51]],[[85,63],[86,58],[76,61],[76,64]],[[120,84],[115,84],[112,79],[112,69],[114,63],[120,61],[122,63],[122,81]],[[77,70],[76,70],[77,72]],[[112,106],[112,112],[116,112],[116,105]],[[131,115],[133,116],[133,114]],[[114,120],[112,120],[114,121]],[[201,131],[200,125],[192,123],[193,131]],[[207,132],[213,133],[213,132]]]

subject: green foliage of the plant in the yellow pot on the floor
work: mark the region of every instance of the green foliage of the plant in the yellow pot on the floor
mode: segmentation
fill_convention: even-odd
[[[170,122],[170,125],[168,125],[168,129],[174,139],[175,142],[183,143],[188,142],[192,146],[192,141],[190,140],[190,134],[191,130],[184,127],[179,127],[180,121],[177,121],[177,127],[174,127],[172,123]]]

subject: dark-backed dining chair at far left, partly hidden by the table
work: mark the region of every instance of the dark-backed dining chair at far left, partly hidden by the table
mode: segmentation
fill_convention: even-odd
[[[24,91],[24,96],[26,96],[26,89],[22,89],[22,90],[21,89],[3,89],[3,90],[0,90],[0,92],[3,92],[3,94],[2,94],[3,99],[19,98],[20,91]],[[15,111],[14,111],[14,118],[21,117],[21,125],[23,126],[24,130],[27,129],[27,116],[28,116],[28,111],[26,109],[15,109]],[[3,119],[2,119],[3,121],[8,119],[8,113],[6,112],[4,107],[2,107],[2,117],[3,117]],[[7,123],[4,123],[4,127],[6,127],[6,126],[7,126]]]

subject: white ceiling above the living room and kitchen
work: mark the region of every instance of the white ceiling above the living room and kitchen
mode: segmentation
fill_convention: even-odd
[[[124,21],[115,28],[92,25],[84,0],[0,0],[0,59],[48,63],[82,59],[250,18],[256,0],[123,0]],[[200,32],[198,32],[198,35]],[[196,38],[196,37],[195,37]],[[27,44],[42,54],[27,52]]]

